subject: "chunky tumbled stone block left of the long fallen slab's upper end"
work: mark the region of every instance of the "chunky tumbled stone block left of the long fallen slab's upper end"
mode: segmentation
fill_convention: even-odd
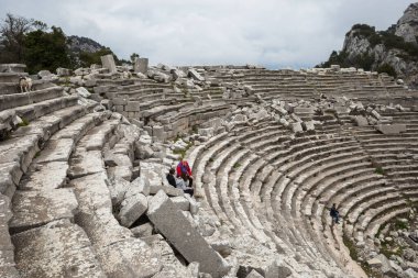
[[[148,208],[148,201],[142,193],[131,194],[121,203],[118,218],[121,225],[130,227]]]

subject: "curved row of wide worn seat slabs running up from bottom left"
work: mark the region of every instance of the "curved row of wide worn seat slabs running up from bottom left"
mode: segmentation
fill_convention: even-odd
[[[77,210],[74,192],[62,188],[76,142],[103,121],[105,115],[84,114],[79,114],[78,120],[73,118],[73,122],[62,123],[62,130],[46,142],[13,196],[10,231],[15,233],[12,241],[16,268],[22,277],[59,276],[72,271],[103,277],[84,231],[70,223]],[[79,252],[75,252],[77,249]],[[61,267],[51,269],[52,262]]]

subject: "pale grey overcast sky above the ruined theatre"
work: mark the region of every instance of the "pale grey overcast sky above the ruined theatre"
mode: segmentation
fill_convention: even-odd
[[[312,67],[355,23],[386,30],[405,0],[0,0],[7,12],[168,65]]]

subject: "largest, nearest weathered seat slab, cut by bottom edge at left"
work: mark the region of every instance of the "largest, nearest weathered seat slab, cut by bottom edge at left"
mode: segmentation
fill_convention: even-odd
[[[106,278],[86,233],[69,220],[51,222],[12,236],[22,278]]]

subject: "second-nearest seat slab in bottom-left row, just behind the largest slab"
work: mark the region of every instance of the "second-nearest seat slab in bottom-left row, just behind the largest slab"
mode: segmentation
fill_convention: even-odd
[[[78,207],[70,188],[52,191],[16,191],[13,196],[12,233],[26,231],[59,219],[73,219]]]

